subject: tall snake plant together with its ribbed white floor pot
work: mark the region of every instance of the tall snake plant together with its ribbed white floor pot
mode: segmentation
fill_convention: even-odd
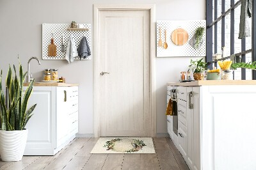
[[[35,104],[27,110],[34,80],[22,94],[26,73],[23,73],[21,65],[19,65],[19,77],[14,65],[13,70],[14,77],[9,66],[6,76],[6,95],[2,89],[2,71],[0,77],[0,155],[3,161],[22,159],[28,137],[28,130],[25,127],[36,107]]]

